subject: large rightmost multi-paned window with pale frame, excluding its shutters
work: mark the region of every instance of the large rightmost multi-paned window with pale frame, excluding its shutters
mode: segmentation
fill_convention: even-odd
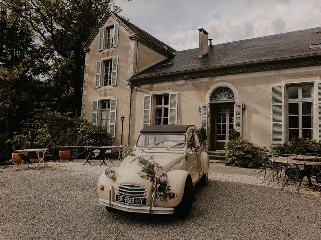
[[[287,86],[288,141],[313,138],[313,99],[313,84]]]

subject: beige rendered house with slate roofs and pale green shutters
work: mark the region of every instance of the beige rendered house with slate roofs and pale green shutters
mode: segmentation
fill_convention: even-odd
[[[258,146],[321,139],[321,28],[218,45],[198,34],[198,48],[176,51],[109,12],[84,46],[82,116],[117,143],[125,116],[131,145],[150,124],[203,126],[211,151],[233,128]]]

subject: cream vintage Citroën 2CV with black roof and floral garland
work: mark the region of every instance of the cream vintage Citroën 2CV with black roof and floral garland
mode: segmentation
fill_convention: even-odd
[[[119,167],[107,167],[97,185],[108,210],[189,214],[197,182],[208,181],[209,157],[193,125],[151,125]]]

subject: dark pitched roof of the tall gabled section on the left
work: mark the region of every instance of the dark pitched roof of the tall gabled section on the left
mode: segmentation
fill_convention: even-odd
[[[117,15],[116,13],[114,13],[112,11],[108,11],[107,14],[105,15],[105,17],[98,23],[98,25],[96,26],[94,31],[91,33],[91,35],[88,38],[88,40],[86,41],[86,43],[84,44],[84,46],[83,46],[84,51],[87,51],[89,49],[91,42],[94,40],[94,38],[96,37],[96,35],[99,32],[99,28],[101,28],[105,24],[105,22],[111,16],[111,14],[113,14],[115,17],[117,17],[120,22],[122,22],[126,27],[128,27],[129,30],[131,30],[133,32],[133,34],[135,34],[137,36],[137,38],[139,39],[139,42],[141,44],[144,44],[144,45],[148,46],[149,48],[151,48],[151,49],[157,51],[158,53],[161,53],[167,57],[173,56],[175,54],[175,52],[176,52],[175,49],[166,45],[164,42],[158,40],[157,38],[153,37],[149,33],[140,29],[138,26],[135,26],[131,22],[127,21],[126,19],[124,19],[123,17]]]

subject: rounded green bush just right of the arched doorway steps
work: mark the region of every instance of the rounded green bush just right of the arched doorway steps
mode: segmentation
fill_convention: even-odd
[[[231,140],[225,145],[225,165],[256,167],[260,162],[260,148],[246,140]]]

